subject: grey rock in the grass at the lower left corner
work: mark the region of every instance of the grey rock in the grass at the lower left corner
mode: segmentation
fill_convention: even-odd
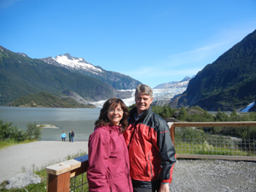
[[[7,185],[5,185],[4,187],[5,189],[11,189],[11,188],[21,189],[26,187],[26,185],[36,184],[40,182],[41,182],[41,178],[38,177],[38,175],[36,175],[35,173],[22,172],[15,175],[14,177],[9,178],[9,180],[7,181]]]

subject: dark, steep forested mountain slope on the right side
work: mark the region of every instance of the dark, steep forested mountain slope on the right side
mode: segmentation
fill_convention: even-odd
[[[207,110],[233,110],[256,96],[256,30],[208,64],[172,107],[195,106]]]

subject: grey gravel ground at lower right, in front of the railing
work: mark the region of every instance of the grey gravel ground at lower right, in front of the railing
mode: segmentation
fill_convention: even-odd
[[[170,191],[256,191],[256,163],[229,160],[177,160]]]

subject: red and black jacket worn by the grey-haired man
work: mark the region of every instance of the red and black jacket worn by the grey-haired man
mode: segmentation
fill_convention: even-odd
[[[131,179],[139,185],[150,186],[160,179],[172,183],[175,149],[166,121],[151,109],[151,106],[136,121],[137,108],[130,112],[129,126],[124,132],[128,146]]]

